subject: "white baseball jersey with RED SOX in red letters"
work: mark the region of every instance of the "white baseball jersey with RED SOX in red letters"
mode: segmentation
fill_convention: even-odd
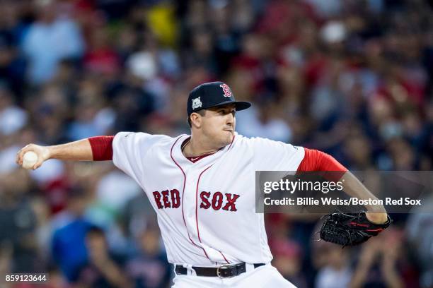
[[[181,151],[189,137],[120,132],[112,143],[114,164],[156,210],[168,261],[269,263],[264,217],[255,213],[255,171],[296,171],[304,148],[236,133],[231,145],[192,162]]]

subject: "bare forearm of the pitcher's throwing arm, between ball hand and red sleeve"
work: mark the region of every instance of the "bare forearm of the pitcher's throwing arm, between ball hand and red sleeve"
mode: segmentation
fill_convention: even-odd
[[[49,159],[92,161],[93,152],[89,140],[81,139],[78,141],[47,146]]]

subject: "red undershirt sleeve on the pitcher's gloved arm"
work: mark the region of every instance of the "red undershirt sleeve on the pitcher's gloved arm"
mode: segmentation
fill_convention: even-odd
[[[345,172],[347,172],[347,168],[344,167],[340,162],[335,160],[331,155],[326,154],[325,152],[304,148],[305,156],[304,159],[299,164],[299,167],[296,172],[313,172],[313,171],[321,171],[321,172],[341,172],[335,173],[335,175],[330,176],[333,181],[338,181]]]

